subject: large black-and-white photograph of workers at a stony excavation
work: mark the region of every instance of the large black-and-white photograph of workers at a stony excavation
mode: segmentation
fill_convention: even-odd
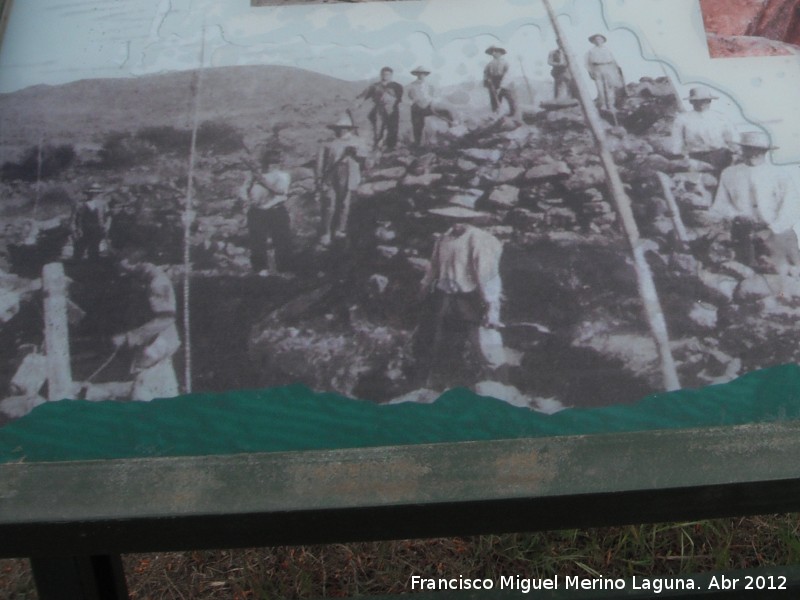
[[[0,424],[291,383],[555,412],[800,357],[794,172],[600,1],[43,4],[95,33],[0,76]]]

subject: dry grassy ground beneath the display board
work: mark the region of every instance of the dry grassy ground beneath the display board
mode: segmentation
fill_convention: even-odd
[[[321,598],[410,591],[412,575],[662,576],[800,564],[800,514],[469,538],[124,557],[131,598]],[[0,599],[36,598],[0,560]]]

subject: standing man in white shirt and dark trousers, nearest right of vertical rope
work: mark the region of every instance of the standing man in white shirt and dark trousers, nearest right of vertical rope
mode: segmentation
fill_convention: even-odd
[[[280,168],[280,161],[279,150],[265,149],[261,154],[263,171],[254,169],[245,183],[250,264],[253,271],[262,277],[269,275],[270,271],[284,271],[292,250],[289,212],[286,210],[292,177]]]

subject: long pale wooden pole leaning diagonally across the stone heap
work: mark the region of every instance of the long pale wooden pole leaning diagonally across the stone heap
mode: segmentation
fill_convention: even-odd
[[[609,190],[614,199],[617,215],[619,215],[622,227],[625,230],[625,235],[628,238],[628,244],[633,254],[633,265],[636,271],[639,296],[644,305],[645,316],[656,344],[661,373],[664,379],[664,388],[667,390],[680,389],[681,384],[678,379],[678,371],[675,368],[675,360],[672,357],[669,334],[667,333],[667,323],[664,320],[664,311],[658,299],[658,292],[656,291],[655,282],[653,281],[653,274],[644,256],[644,247],[641,237],[639,236],[639,228],[633,217],[630,198],[628,198],[628,195],[625,193],[622,178],[619,175],[616,164],[614,164],[614,159],[611,157],[611,152],[608,150],[600,113],[594,105],[594,102],[592,102],[591,94],[586,87],[583,77],[577,72],[576,66],[578,65],[578,60],[572,52],[567,36],[558,23],[553,7],[550,5],[550,0],[542,0],[542,2],[553,24],[558,44],[566,57],[567,68],[570,70],[575,80],[575,86],[578,90],[578,100],[580,101],[589,128],[597,142],[600,161],[606,173],[606,182],[608,183]]]

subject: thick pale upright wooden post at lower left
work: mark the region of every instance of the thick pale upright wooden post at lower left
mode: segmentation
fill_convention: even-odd
[[[47,399],[72,396],[72,368],[67,326],[67,278],[64,265],[50,263],[42,269],[44,292],[44,344],[47,354]]]

